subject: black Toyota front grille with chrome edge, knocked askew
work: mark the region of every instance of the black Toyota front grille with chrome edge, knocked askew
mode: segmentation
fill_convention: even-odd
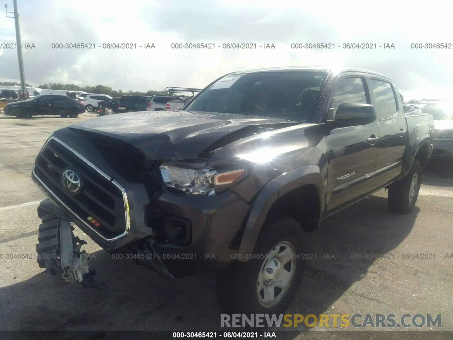
[[[77,195],[63,187],[61,175],[67,167],[82,176],[82,191]],[[101,175],[56,138],[51,138],[39,153],[34,175],[103,238],[115,239],[128,230],[127,202],[119,185]],[[92,220],[99,225],[90,222]]]

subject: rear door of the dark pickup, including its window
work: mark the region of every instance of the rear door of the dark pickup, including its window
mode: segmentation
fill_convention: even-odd
[[[393,83],[386,78],[370,76],[370,84],[379,127],[375,180],[376,185],[381,187],[400,175],[410,137]]]

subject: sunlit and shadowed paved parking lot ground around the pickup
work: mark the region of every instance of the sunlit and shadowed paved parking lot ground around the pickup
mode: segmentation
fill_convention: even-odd
[[[218,329],[220,311],[213,275],[159,277],[132,260],[111,259],[77,229],[76,235],[88,241],[84,249],[96,256],[91,266],[106,286],[88,289],[65,284],[39,268],[33,258],[40,223],[36,208],[44,197],[30,179],[34,158],[52,131],[86,119],[96,119],[96,115],[27,120],[0,114],[0,328]],[[308,262],[288,313],[442,314],[441,330],[453,330],[453,258],[443,258],[453,253],[453,176],[449,171],[441,166],[425,171],[417,205],[409,215],[391,213],[382,190],[308,234],[310,252],[317,257]],[[32,258],[7,259],[8,253],[31,254]],[[393,257],[364,258],[365,254],[386,253]],[[406,253],[435,254],[435,258],[402,258]],[[309,338],[319,333],[316,330],[288,336]],[[348,333],[351,338],[353,333]],[[316,337],[330,339],[332,333]]]

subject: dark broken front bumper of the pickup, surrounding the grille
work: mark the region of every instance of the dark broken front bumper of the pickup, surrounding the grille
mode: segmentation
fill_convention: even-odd
[[[67,142],[69,144],[70,139],[67,139]],[[99,169],[96,166],[98,165],[105,170],[106,172],[102,173],[108,174],[106,176],[110,181],[121,188],[126,209],[126,228],[123,233],[108,238],[96,230],[86,218],[77,214],[75,209],[71,209],[67,200],[59,197],[63,191],[59,190],[56,194],[53,192],[55,187],[46,185],[46,182],[39,178],[39,171],[35,171],[37,163],[32,172],[32,179],[53,204],[64,211],[94,242],[111,253],[128,254],[122,258],[131,258],[131,253],[149,252],[141,257],[145,258],[145,261],[141,262],[149,264],[166,277],[185,277],[212,272],[226,267],[234,260],[237,249],[233,240],[236,240],[250,210],[250,205],[244,200],[231,191],[211,197],[164,191],[159,197],[150,198],[152,195],[147,193],[145,185],[124,180],[108,164],[102,164],[102,158],[96,155],[95,149],[84,149],[84,143],[87,141],[77,138],[77,144],[71,145],[77,145],[78,151],[71,148],[72,152],[96,169]],[[63,144],[67,146],[66,143]],[[91,151],[85,152],[90,159],[81,155],[83,149]],[[149,214],[151,205],[159,209],[159,220],[150,217],[153,216]],[[187,226],[188,245],[177,245],[157,237],[162,234],[165,225],[171,225],[175,220],[183,221]]]

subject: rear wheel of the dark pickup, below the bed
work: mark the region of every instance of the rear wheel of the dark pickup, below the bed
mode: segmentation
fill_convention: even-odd
[[[390,210],[399,214],[409,214],[419,197],[422,180],[422,165],[414,160],[409,173],[389,187],[388,203]]]

